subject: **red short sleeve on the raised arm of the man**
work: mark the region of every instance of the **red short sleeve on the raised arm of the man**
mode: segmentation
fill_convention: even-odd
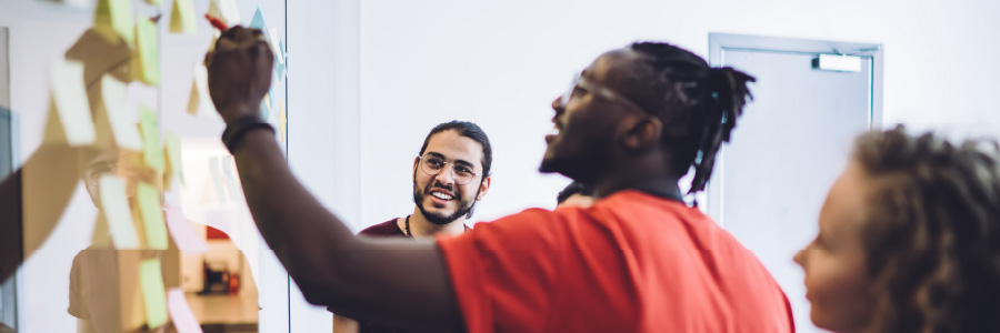
[[[546,325],[566,223],[557,212],[531,209],[438,239],[468,332],[537,332]]]

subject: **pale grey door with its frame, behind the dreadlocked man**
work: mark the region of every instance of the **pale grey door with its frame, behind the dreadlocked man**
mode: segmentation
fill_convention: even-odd
[[[798,332],[819,332],[792,256],[816,236],[823,199],[853,138],[879,127],[881,48],[714,33],[709,41],[712,65],[757,78],[753,102],[720,150],[709,214],[771,272],[792,304]],[[821,54],[839,63],[821,63]]]

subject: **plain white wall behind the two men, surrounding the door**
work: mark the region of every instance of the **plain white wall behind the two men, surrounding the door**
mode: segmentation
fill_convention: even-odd
[[[496,151],[473,220],[551,208],[568,181],[536,172],[549,103],[600,53],[637,40],[703,57],[709,32],[882,43],[886,123],[996,130],[998,17],[1000,2],[979,0],[364,1],[361,223],[412,210],[413,155],[451,119],[478,122]]]

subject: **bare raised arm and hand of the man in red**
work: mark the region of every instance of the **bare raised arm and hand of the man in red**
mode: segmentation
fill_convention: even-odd
[[[206,64],[212,101],[226,122],[254,120],[273,64],[260,31],[234,27],[223,32]],[[248,130],[236,142],[232,153],[253,220],[307,301],[351,317],[461,326],[433,242],[354,238],[292,175],[271,131]]]

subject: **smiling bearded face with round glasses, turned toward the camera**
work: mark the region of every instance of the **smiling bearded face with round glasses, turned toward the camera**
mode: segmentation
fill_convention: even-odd
[[[483,180],[482,175],[482,145],[457,131],[446,130],[433,134],[422,153],[423,159],[413,161],[413,202],[431,223],[448,224],[461,219],[489,189],[489,178]],[[432,160],[446,163],[437,165],[441,169],[434,172],[423,165],[434,163]],[[456,168],[459,170],[453,171]],[[461,184],[461,179],[456,179],[461,171],[476,175]]]

